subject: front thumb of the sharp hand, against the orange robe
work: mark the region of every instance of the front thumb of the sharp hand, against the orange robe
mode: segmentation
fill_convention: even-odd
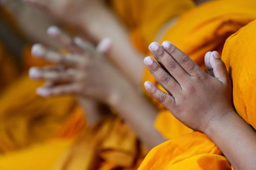
[[[227,84],[229,81],[228,72],[224,62],[220,59],[220,54],[216,51],[212,52],[210,61],[214,76],[222,83]]]

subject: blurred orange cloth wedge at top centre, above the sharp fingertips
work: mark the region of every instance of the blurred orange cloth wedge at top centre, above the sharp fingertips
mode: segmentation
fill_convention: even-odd
[[[129,27],[134,45],[145,53],[166,22],[195,6],[192,0],[111,0],[111,4]]]

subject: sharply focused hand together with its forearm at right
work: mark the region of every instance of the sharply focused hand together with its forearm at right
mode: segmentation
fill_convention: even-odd
[[[207,134],[235,169],[255,169],[256,132],[232,108],[232,86],[218,52],[205,55],[207,74],[168,41],[152,43],[150,51],[163,67],[152,57],[145,65],[168,94],[149,81],[145,89],[180,122]]]

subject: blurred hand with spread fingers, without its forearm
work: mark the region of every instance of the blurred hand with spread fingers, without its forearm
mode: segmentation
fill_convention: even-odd
[[[37,93],[44,97],[75,94],[106,104],[113,101],[122,78],[104,57],[111,46],[109,39],[103,39],[96,50],[80,38],[69,38],[56,27],[51,27],[48,33],[70,53],[63,55],[42,45],[33,46],[35,57],[57,64],[30,69],[31,78],[48,81]]]

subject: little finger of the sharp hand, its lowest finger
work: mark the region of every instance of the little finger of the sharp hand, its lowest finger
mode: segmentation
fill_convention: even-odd
[[[161,104],[163,104],[165,108],[167,108],[168,110],[172,110],[175,104],[175,99],[172,96],[158,89],[156,85],[154,85],[150,81],[146,81],[144,83],[144,86],[148,93],[156,98],[157,101],[159,101]]]

